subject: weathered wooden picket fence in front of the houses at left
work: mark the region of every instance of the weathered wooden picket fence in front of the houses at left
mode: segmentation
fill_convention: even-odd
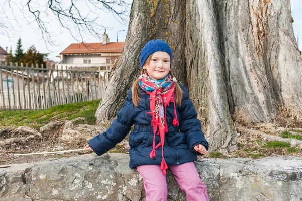
[[[110,66],[105,69],[43,67],[0,65],[0,110],[46,109],[100,99],[110,76]]]

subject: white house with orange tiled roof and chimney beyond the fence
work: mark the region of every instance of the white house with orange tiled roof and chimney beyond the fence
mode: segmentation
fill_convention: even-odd
[[[58,69],[75,68],[105,68],[107,70],[122,55],[125,42],[109,42],[106,32],[103,42],[73,43],[60,53]],[[106,68],[107,66],[107,68]],[[108,68],[110,70],[110,68]]]

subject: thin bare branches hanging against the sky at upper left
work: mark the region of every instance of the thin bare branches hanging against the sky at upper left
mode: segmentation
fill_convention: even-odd
[[[67,29],[70,35],[78,42],[84,41],[83,34],[89,34],[101,39],[102,35],[100,33],[104,29],[108,29],[108,27],[98,23],[101,14],[110,12],[117,20],[126,24],[130,6],[126,0],[28,0],[26,5],[20,8],[20,4],[18,5],[17,1],[22,4],[21,0],[5,1],[4,4],[10,8],[13,18],[0,18],[0,34],[6,36],[10,34],[10,27],[6,21],[14,21],[18,24],[18,18],[15,15],[17,7],[28,25],[34,25],[45,43],[51,46],[55,46],[55,41],[53,40],[55,33],[51,28],[51,22],[54,19],[59,22],[61,28]],[[86,8],[83,8],[83,3],[86,3]],[[6,16],[6,12],[8,10],[4,9],[3,6],[0,14],[3,13]],[[22,27],[20,24],[18,26]]]

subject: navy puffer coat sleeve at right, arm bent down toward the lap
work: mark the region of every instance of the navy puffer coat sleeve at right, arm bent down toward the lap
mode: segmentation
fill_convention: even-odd
[[[188,91],[183,86],[181,86],[181,89],[184,93],[183,100],[179,108],[181,116],[179,128],[181,132],[185,133],[186,142],[189,146],[189,149],[198,155],[202,155],[194,150],[194,146],[201,144],[205,146],[206,150],[208,150],[209,144],[201,130],[201,123],[199,119],[197,119],[197,112],[194,108],[193,102],[189,98]]]

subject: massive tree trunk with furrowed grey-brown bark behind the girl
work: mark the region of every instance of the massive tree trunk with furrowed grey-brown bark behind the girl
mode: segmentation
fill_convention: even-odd
[[[279,106],[297,114],[302,109],[290,0],[134,0],[98,124],[116,116],[140,72],[142,47],[156,38],[172,48],[172,72],[189,91],[211,151],[236,150],[236,111],[268,122]]]

